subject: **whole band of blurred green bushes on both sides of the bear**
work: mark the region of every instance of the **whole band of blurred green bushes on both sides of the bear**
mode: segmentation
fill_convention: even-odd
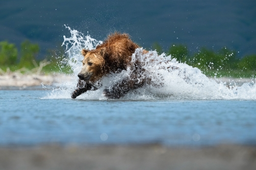
[[[43,61],[38,61],[37,55],[40,51],[38,44],[25,40],[20,44],[20,50],[18,50],[15,44],[2,41],[0,42],[0,69],[3,71],[19,70],[22,73],[26,71],[46,74],[52,72],[71,73],[72,70],[67,64],[64,49],[60,45],[58,46],[58,49],[48,50]],[[164,52],[159,43],[154,43],[152,47],[159,54]],[[202,47],[198,52],[191,54],[188,47],[182,44],[172,44],[165,53],[171,55],[178,62],[199,68],[207,76],[255,77],[256,54],[246,55],[239,59],[236,51],[226,47],[218,51]]]

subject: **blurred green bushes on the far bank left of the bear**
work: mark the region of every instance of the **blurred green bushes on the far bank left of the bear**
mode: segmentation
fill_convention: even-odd
[[[39,45],[31,43],[29,40],[25,40],[20,44],[20,50],[15,44],[2,41],[0,42],[0,69],[16,71],[21,68],[31,70],[39,67],[40,62],[42,63],[42,61],[37,60],[39,51]],[[54,71],[70,72],[70,68],[64,66],[64,58],[65,51],[61,46],[57,50],[48,50],[43,62],[49,64],[44,65],[43,71],[46,73]]]

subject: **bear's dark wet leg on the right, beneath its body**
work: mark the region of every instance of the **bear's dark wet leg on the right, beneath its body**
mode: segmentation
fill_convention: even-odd
[[[109,99],[119,99],[131,90],[138,89],[143,86],[144,80],[126,78],[121,82],[114,84],[111,88],[104,89],[104,94]]]

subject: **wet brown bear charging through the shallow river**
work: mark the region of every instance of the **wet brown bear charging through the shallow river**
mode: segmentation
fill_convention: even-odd
[[[79,82],[71,98],[85,93],[88,90],[96,90],[95,82],[110,73],[118,73],[132,67],[133,71],[129,77],[114,84],[104,90],[107,98],[118,99],[128,93],[143,86],[145,79],[140,77],[143,69],[140,62],[132,61],[132,54],[139,46],[134,43],[128,34],[113,33],[93,50],[82,50],[84,55],[83,67],[78,74]],[[144,53],[147,51],[144,50]],[[140,79],[140,80],[138,80]]]

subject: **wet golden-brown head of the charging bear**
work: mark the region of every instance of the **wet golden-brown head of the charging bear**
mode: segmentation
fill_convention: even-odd
[[[106,48],[94,49],[88,51],[83,49],[84,55],[83,67],[78,74],[79,79],[95,82],[104,76],[105,58],[107,55]]]

